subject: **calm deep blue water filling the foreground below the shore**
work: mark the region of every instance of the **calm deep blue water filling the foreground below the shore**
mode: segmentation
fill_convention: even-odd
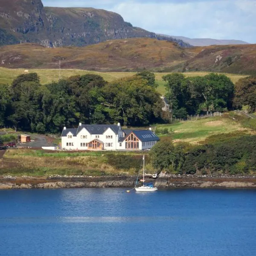
[[[0,255],[255,256],[256,190],[3,190]]]

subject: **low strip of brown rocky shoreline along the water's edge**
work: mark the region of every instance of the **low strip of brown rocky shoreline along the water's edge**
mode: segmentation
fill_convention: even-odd
[[[127,176],[51,176],[51,177],[0,177],[0,189],[56,189],[56,188],[107,188],[133,187],[136,177]],[[256,188],[256,177],[206,177],[169,175],[149,178],[158,188]]]

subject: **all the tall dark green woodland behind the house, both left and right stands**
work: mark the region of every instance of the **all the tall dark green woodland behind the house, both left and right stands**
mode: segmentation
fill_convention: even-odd
[[[172,73],[163,80],[166,99],[177,118],[242,105],[252,111],[256,108],[253,77],[240,79],[236,86],[227,76],[215,73],[190,78]],[[156,87],[154,73],[148,71],[109,83],[99,75],[87,74],[44,85],[36,73],[23,74],[10,85],[0,84],[0,126],[57,133],[63,126],[79,122],[128,126],[169,122]]]

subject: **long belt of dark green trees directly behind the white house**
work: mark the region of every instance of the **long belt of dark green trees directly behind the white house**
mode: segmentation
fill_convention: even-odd
[[[57,133],[79,122],[145,126],[161,122],[162,100],[153,73],[106,82],[101,76],[72,76],[41,84],[37,73],[0,84],[0,125]],[[152,80],[153,78],[153,80]]]

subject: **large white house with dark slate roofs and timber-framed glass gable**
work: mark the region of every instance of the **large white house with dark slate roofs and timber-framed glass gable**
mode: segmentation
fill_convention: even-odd
[[[82,125],[63,128],[61,148],[67,150],[144,150],[159,141],[151,129],[122,130],[121,125]]]

